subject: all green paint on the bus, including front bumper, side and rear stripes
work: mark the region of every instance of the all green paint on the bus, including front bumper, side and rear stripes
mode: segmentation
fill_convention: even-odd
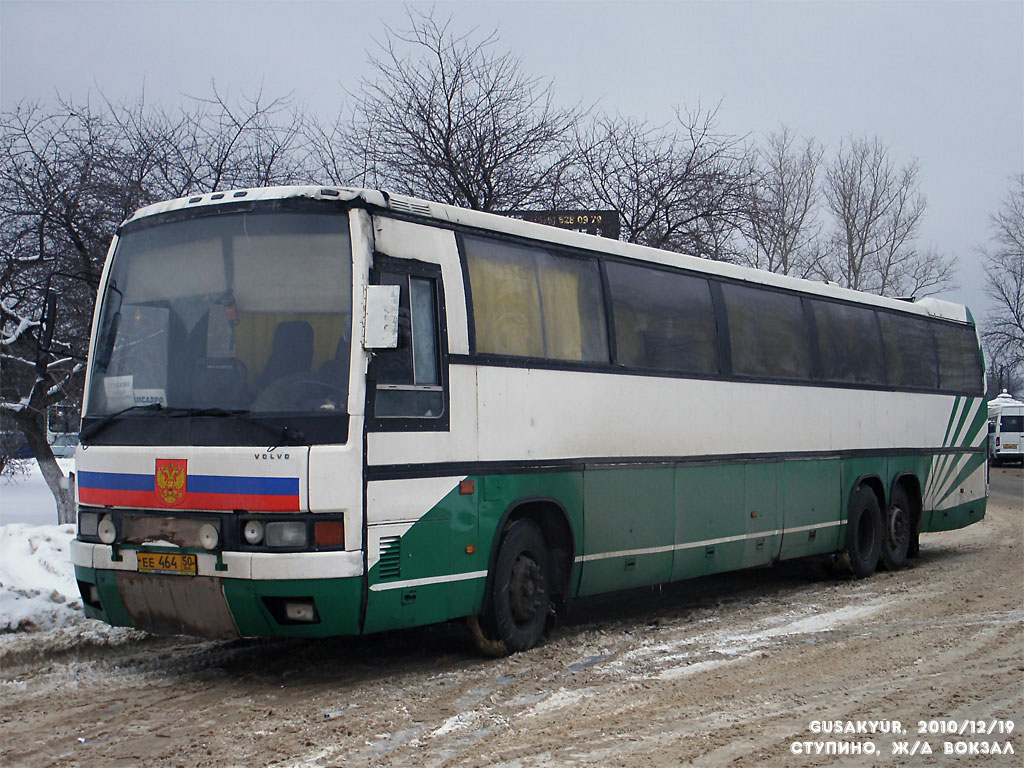
[[[453,487],[401,536],[398,557],[391,557],[386,568],[376,562],[365,581],[223,579],[222,585],[246,636],[351,635],[474,614],[483,607],[492,549],[506,512],[542,507],[550,514],[564,510],[571,527],[569,597],[691,579],[836,552],[845,544],[847,504],[856,483],[878,478],[888,499],[894,483],[909,474],[924,488],[933,458],[939,457],[476,475],[467,478],[474,483],[473,494]],[[968,455],[955,481],[983,463],[983,455]],[[984,513],[984,498],[926,509],[921,529],[963,527]],[[80,566],[75,571],[99,592],[102,610],[86,606],[87,615],[131,626],[115,571]],[[280,624],[266,597],[312,597],[319,623]]]

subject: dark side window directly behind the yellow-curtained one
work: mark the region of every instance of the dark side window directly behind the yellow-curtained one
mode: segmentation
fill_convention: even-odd
[[[718,331],[702,278],[608,262],[617,361],[692,374],[717,374]]]

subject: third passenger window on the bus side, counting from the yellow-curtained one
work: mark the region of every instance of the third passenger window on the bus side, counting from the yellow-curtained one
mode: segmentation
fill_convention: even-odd
[[[797,296],[724,284],[732,370],[737,376],[810,379],[811,343]]]

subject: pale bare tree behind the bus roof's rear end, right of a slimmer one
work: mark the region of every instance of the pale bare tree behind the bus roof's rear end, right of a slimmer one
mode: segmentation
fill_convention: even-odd
[[[953,287],[955,259],[915,247],[926,201],[918,163],[901,168],[878,138],[848,138],[825,169],[835,221],[819,274],[885,296],[928,296]]]

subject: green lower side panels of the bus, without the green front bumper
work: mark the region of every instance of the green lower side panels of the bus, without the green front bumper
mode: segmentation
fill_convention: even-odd
[[[574,597],[835,552],[844,544],[847,502],[860,478],[877,475],[888,495],[908,472],[924,484],[933,458],[470,476],[473,495],[453,488],[401,537],[399,573],[382,578],[379,562],[370,569],[364,631],[478,611],[498,525],[522,500],[550,499],[568,513]],[[473,555],[465,552],[470,540]]]

